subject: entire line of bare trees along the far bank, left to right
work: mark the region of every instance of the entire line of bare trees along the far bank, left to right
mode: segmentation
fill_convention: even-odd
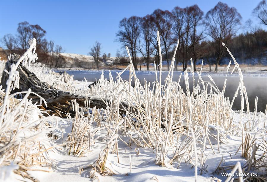
[[[263,26],[267,26],[266,12],[266,0],[261,1],[252,12]],[[156,65],[159,65],[156,35],[156,32],[159,31],[162,58],[166,60],[168,69],[174,47],[179,39],[175,55],[175,70],[179,63],[182,64],[183,70],[186,70],[187,64],[192,58],[194,70],[196,70],[197,61],[203,59],[205,64],[210,65],[210,70],[211,64],[215,64],[215,71],[217,71],[218,65],[224,64],[222,60],[228,56],[222,42],[237,58],[248,60],[250,58],[266,58],[267,31],[253,27],[251,20],[247,20],[246,24],[241,27],[241,18],[236,8],[229,7],[222,2],[209,10],[206,15],[198,5],[185,8],[174,7],[172,11],[157,9],[145,17],[132,16],[122,19],[119,22],[119,31],[116,37],[123,46],[128,46],[136,70],[138,63],[142,62],[146,62],[147,69],[149,69],[149,63],[154,63],[154,61]],[[245,33],[236,35],[240,29]],[[35,37],[37,61],[51,68],[64,67],[66,60],[61,55],[64,50],[60,45],[55,45],[53,41],[48,41],[45,34],[46,31],[39,25],[31,25],[26,21],[21,22],[18,24],[15,36],[7,34],[1,39],[6,48],[3,52],[7,56],[10,53],[22,55],[28,48],[28,40]],[[110,58],[110,53],[107,56],[105,53],[101,55],[101,52],[99,42],[96,42],[89,52],[89,55],[94,58],[97,69],[99,69],[99,62]],[[143,58],[140,59],[137,55]],[[127,61],[125,56],[119,52],[116,54],[120,63]],[[250,62],[247,63],[250,64]]]

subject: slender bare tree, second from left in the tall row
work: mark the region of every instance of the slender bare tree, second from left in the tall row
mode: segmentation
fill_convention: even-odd
[[[153,48],[152,48],[153,29],[151,27],[151,16],[150,15],[146,15],[145,17],[143,17],[141,28],[142,28],[141,37],[143,39],[145,46],[141,44],[141,40],[139,39],[138,51],[143,55],[146,61],[146,69],[149,70],[150,56],[153,53]]]

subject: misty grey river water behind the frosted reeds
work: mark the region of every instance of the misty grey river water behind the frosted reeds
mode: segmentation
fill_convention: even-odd
[[[68,70],[66,71],[70,75],[74,75],[75,80],[82,81],[84,77],[89,82],[94,82],[100,78],[102,71],[96,70]],[[113,79],[117,76],[116,72],[120,72],[120,70],[110,70]],[[140,83],[144,84],[144,78],[147,82],[150,82],[152,87],[152,82],[155,81],[155,72],[154,71],[135,71]],[[186,90],[185,83],[184,83],[184,73],[183,72],[173,72],[173,81],[178,81],[180,74],[182,73],[180,85],[181,88]],[[208,78],[208,74],[211,75],[212,79],[216,83],[217,87],[220,91],[222,91],[224,80],[225,80],[225,73],[202,73],[201,78],[203,81],[210,81]],[[109,79],[109,70],[104,70],[104,75],[107,80]],[[162,71],[162,84],[164,84],[164,80],[168,75],[167,71]],[[193,88],[193,79],[192,74],[189,73],[189,88],[192,91]],[[157,76],[159,78],[159,72],[157,72]],[[198,82],[198,75],[195,73],[195,84]],[[129,80],[129,70],[125,71],[121,75],[123,80]],[[244,85],[246,86],[248,99],[249,99],[249,108],[250,111],[254,111],[255,105],[255,97],[258,96],[258,105],[257,105],[257,112],[262,111],[265,112],[266,103],[267,103],[267,74],[266,73],[255,73],[255,74],[244,74],[243,75]],[[210,81],[211,82],[211,81]],[[229,97],[230,101],[232,101],[235,91],[239,85],[239,75],[237,73],[233,73],[230,75],[228,73],[227,76],[227,83],[226,83],[226,90],[225,90],[225,97]],[[202,84],[200,85],[202,86]],[[232,109],[233,110],[240,110],[241,107],[241,96],[240,91],[238,92],[238,96],[235,99]],[[244,111],[246,111],[246,106]]]

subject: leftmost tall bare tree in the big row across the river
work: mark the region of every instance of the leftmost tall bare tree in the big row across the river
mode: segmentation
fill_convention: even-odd
[[[127,45],[132,55],[132,62],[135,70],[137,69],[137,41],[141,33],[141,18],[131,16],[130,18],[123,18],[119,23],[119,32],[116,34],[118,41]]]

